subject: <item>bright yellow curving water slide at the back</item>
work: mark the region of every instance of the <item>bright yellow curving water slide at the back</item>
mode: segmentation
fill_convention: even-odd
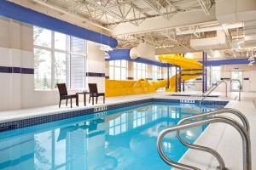
[[[184,58],[178,54],[159,55],[158,59],[163,63],[169,63],[171,65],[181,67],[183,70],[181,82],[199,77],[202,73],[201,63],[195,61],[194,59]],[[180,77],[180,75],[178,74],[170,78],[170,87],[167,88],[166,91],[175,91],[176,77]],[[106,79],[106,96],[113,97],[131,94],[153,93],[159,88],[166,88],[167,83],[167,79],[156,82],[148,82],[146,79],[140,79],[138,81],[116,81]]]

